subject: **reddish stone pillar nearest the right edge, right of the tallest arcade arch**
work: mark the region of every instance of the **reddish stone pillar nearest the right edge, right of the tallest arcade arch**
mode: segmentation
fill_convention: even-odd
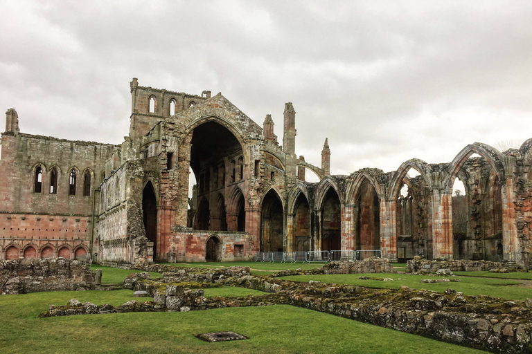
[[[502,185],[502,254],[504,261],[521,261],[520,244],[515,220],[515,193],[513,178]]]

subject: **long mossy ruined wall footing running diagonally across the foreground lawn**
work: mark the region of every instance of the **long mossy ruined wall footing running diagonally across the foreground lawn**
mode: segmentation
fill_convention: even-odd
[[[176,270],[175,267],[161,270]],[[199,275],[201,274],[201,275]],[[233,276],[234,275],[234,276]],[[188,311],[238,306],[290,304],[386,328],[471,346],[495,353],[530,353],[532,299],[508,301],[468,296],[452,289],[445,292],[364,288],[310,281],[298,283],[249,275],[249,268],[180,269],[150,280],[149,273],[131,274],[135,290],[146,291],[154,301],[129,301],[121,306],[96,306],[71,300],[67,306],[51,306],[39,317],[118,313],[134,311]],[[179,281],[206,281],[269,292],[248,297],[204,297],[201,289]],[[195,284],[197,287],[199,284]]]

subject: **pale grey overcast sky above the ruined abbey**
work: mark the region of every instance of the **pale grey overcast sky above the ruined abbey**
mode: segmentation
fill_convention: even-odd
[[[532,138],[532,1],[0,2],[0,109],[121,143],[130,81],[227,97],[332,174]],[[3,129],[3,123],[0,129]]]

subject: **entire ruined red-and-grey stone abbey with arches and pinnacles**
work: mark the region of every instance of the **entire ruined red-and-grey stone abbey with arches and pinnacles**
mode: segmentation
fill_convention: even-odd
[[[373,249],[389,259],[531,266],[532,139],[504,152],[475,142],[449,163],[414,158],[397,171],[331,176],[327,140],[321,167],[296,156],[290,102],[281,146],[270,115],[260,127],[221,93],[188,95],[136,78],[130,88],[121,145],[20,133],[17,112],[7,111],[0,259],[92,257],[128,267]],[[307,170],[319,183],[305,182]],[[456,178],[465,196],[452,196]]]

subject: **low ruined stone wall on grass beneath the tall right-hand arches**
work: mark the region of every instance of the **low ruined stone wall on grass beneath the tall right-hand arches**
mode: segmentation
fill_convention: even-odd
[[[453,272],[487,272],[491,269],[509,268],[511,265],[492,261],[429,261],[427,259],[411,259],[407,261],[405,272],[436,272],[438,269],[449,269]],[[515,268],[515,265],[513,265]]]

